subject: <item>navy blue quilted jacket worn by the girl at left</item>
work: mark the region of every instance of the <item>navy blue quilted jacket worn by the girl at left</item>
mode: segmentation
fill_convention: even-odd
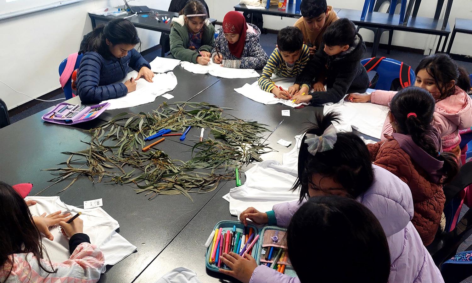
[[[116,83],[127,74],[129,67],[139,72],[141,67],[151,68],[149,63],[132,49],[122,58],[105,59],[97,52],[85,52],[80,60],[77,74],[77,93],[84,104],[125,96],[128,89],[124,83]]]

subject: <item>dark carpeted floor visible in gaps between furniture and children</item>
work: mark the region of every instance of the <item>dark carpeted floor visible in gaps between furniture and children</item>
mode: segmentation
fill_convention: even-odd
[[[274,50],[275,45],[277,44],[277,35],[276,34],[271,34],[271,33],[261,34],[260,42],[261,42],[262,48],[266,51],[267,54],[270,55],[272,53],[272,51]],[[371,48],[368,47],[367,52],[366,52],[366,58],[369,57],[370,54],[371,54]],[[144,55],[143,57],[147,61],[150,62],[154,58],[156,58],[157,56],[160,56],[160,50],[155,50],[152,53]],[[390,52],[390,54],[387,54],[387,51],[382,50],[382,49],[380,49],[378,51],[377,56],[386,56],[386,57],[389,57],[389,58],[395,58],[399,61],[403,61],[403,62],[407,63],[413,69],[418,66],[418,62],[421,60],[421,58],[425,57],[424,55],[421,55],[421,54],[408,53],[408,52],[397,51],[397,50],[392,50]],[[470,63],[470,62],[459,62],[459,64],[461,66],[465,67],[467,69],[467,71],[469,71],[469,73],[472,73],[472,63]],[[51,98],[51,100],[60,99],[60,98],[63,98],[63,97],[64,97],[64,94],[61,93],[61,94]],[[44,109],[47,109],[47,108],[49,108],[53,105],[56,105],[57,103],[58,103],[58,101],[40,102],[37,105],[35,105],[31,108],[25,109],[23,112],[10,117],[11,122],[15,123],[15,122],[17,122],[21,119],[24,119],[25,117],[29,117],[31,115],[34,115],[35,113],[38,113],[38,112],[40,112]],[[467,211],[467,210],[468,210],[468,208],[466,206],[464,206],[464,208],[462,209],[462,215],[464,215],[465,211]],[[462,217],[462,215],[461,215],[461,217]],[[469,247],[471,244],[472,244],[472,236],[469,239],[467,239],[466,241],[464,241],[464,243],[459,247],[459,251],[463,251],[465,248]],[[472,278],[469,278],[469,279],[463,281],[463,283],[472,283]]]

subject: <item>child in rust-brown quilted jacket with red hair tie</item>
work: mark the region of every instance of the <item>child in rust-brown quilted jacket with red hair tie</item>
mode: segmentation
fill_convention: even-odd
[[[368,144],[371,160],[404,181],[413,196],[412,223],[429,245],[438,232],[446,197],[442,184],[457,174],[454,154],[443,152],[441,136],[431,126],[434,98],[419,87],[407,87],[390,101],[393,133],[386,141]]]

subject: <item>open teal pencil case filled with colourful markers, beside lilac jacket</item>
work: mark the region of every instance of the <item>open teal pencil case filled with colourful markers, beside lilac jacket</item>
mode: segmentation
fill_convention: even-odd
[[[231,234],[231,236],[229,237],[230,239],[232,239],[233,228],[235,226],[236,226],[236,233],[235,233],[236,241],[238,239],[241,240],[243,238],[242,236],[238,238],[237,236],[238,233],[242,234],[244,231],[247,231],[246,233],[250,233],[250,232],[254,233],[253,237],[251,237],[250,235],[248,235],[247,237],[247,240],[249,241],[247,241],[246,248],[251,245],[252,241],[255,241],[255,243],[253,244],[252,249],[249,250],[249,252],[247,251],[246,252],[249,253],[253,258],[255,258],[258,265],[267,265],[273,268],[274,260],[278,258],[277,263],[275,264],[275,269],[278,270],[279,272],[282,271],[283,274],[286,274],[292,277],[296,276],[296,273],[288,260],[287,251],[285,250],[286,248],[285,233],[287,229],[278,227],[278,226],[264,226],[262,228],[257,228],[256,226],[250,225],[250,224],[248,224],[247,227],[244,228],[243,223],[239,221],[228,220],[228,221],[218,222],[215,225],[215,228],[213,229],[213,231],[216,231],[218,229],[218,231],[221,231],[223,235],[227,233],[227,231],[229,231]],[[214,237],[213,241],[211,241],[210,246],[207,248],[207,252],[205,256],[205,260],[206,260],[205,266],[206,268],[215,272],[219,272],[218,271],[219,268],[224,268],[224,269],[229,270],[230,268],[228,266],[224,266],[222,263],[220,263],[220,267],[218,266],[219,260],[217,259],[218,258],[217,253],[219,253],[219,245],[215,245],[215,247],[213,247],[213,242],[216,242],[218,240],[218,234],[215,233],[215,235],[216,237]],[[259,235],[259,238],[257,238],[257,235]],[[220,234],[220,238],[221,238],[221,234]],[[225,238],[223,237],[223,239]],[[239,254],[242,250],[244,250],[243,240],[241,240],[241,245],[239,245],[239,242],[236,243],[236,241],[233,241],[234,245],[232,248],[233,250],[231,251],[234,252],[235,250],[239,248],[239,251],[237,252]],[[230,245],[230,241],[228,241],[228,244]],[[225,245],[223,245],[223,250],[225,250],[224,246]],[[234,246],[236,246],[236,248]],[[216,249],[216,251],[214,249]],[[228,252],[230,251],[230,249],[231,247],[228,248]],[[272,250],[271,253],[270,253],[270,250]]]

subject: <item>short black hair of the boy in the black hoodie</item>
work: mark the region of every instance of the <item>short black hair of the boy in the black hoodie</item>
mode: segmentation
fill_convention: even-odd
[[[346,18],[338,19],[323,33],[323,42],[328,46],[352,45],[357,32],[354,23]]]

